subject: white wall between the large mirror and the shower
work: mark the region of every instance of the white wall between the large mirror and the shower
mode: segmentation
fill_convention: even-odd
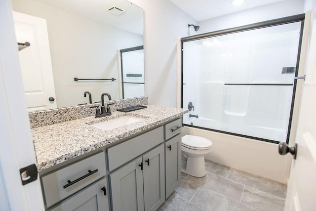
[[[145,93],[149,104],[176,107],[177,38],[197,22],[169,0],[131,0],[145,11]]]

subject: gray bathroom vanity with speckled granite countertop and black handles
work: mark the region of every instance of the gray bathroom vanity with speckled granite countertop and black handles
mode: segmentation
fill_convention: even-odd
[[[180,184],[184,113],[148,106],[33,128],[46,210],[157,210]],[[143,120],[93,127],[126,115]]]

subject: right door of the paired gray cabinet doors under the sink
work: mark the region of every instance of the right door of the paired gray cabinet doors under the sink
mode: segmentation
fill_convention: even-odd
[[[164,202],[164,144],[143,157],[145,211],[156,211]]]

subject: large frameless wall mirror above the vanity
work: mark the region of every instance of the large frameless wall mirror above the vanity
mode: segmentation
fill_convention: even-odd
[[[143,45],[142,8],[127,0],[11,1],[29,111],[89,104],[85,92],[91,93],[92,103],[101,101],[104,92],[112,100],[122,99],[126,77],[134,77],[130,81],[140,90],[128,97],[144,96],[139,89],[144,51],[126,58],[129,66],[137,67],[129,72],[121,70],[120,53]],[[52,89],[48,85],[54,93],[44,93]]]

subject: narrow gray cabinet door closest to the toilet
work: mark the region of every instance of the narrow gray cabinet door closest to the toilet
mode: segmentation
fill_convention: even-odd
[[[181,133],[165,143],[166,198],[181,181]]]

